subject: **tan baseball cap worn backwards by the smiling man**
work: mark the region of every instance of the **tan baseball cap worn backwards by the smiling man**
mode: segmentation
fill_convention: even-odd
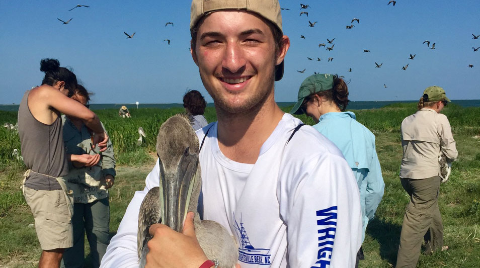
[[[278,0],[192,0],[190,9],[190,30],[204,16],[221,10],[246,10],[256,13],[272,22],[281,33],[282,14]],[[282,79],[285,61],[276,66],[275,81]]]

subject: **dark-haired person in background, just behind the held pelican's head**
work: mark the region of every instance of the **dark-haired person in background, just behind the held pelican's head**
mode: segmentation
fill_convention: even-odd
[[[193,129],[201,129],[208,125],[207,120],[203,116],[205,113],[205,107],[207,107],[207,102],[205,102],[205,99],[200,92],[191,90],[185,93],[183,96],[183,107],[185,107],[187,113],[193,116]]]

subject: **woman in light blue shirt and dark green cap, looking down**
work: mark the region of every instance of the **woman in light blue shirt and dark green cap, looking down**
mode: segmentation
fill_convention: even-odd
[[[345,112],[348,102],[348,87],[342,78],[314,74],[300,85],[298,101],[290,114],[311,117],[317,123],[313,128],[335,143],[347,159],[360,191],[365,239],[367,224],[375,216],[385,184],[375,150],[375,136],[357,122],[354,113]],[[361,247],[356,266],[358,259],[363,259]]]

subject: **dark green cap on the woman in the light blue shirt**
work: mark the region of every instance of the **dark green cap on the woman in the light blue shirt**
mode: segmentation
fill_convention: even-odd
[[[302,105],[305,98],[313,93],[331,90],[333,88],[333,81],[336,78],[337,75],[328,73],[313,74],[305,78],[305,80],[303,80],[302,84],[300,85],[300,89],[298,90],[298,101],[293,106],[292,110],[290,110],[290,114],[303,114],[300,106]]]

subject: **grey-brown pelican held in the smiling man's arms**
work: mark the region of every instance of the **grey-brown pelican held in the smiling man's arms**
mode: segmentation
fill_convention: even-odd
[[[138,213],[139,267],[145,265],[146,245],[152,237],[149,227],[163,223],[182,232],[188,211],[195,212],[195,234],[207,258],[216,259],[220,267],[234,267],[238,260],[236,240],[219,223],[201,221],[197,212],[202,187],[199,142],[188,116],[176,115],[162,124],[156,152],[160,165],[159,186],[148,191]]]

